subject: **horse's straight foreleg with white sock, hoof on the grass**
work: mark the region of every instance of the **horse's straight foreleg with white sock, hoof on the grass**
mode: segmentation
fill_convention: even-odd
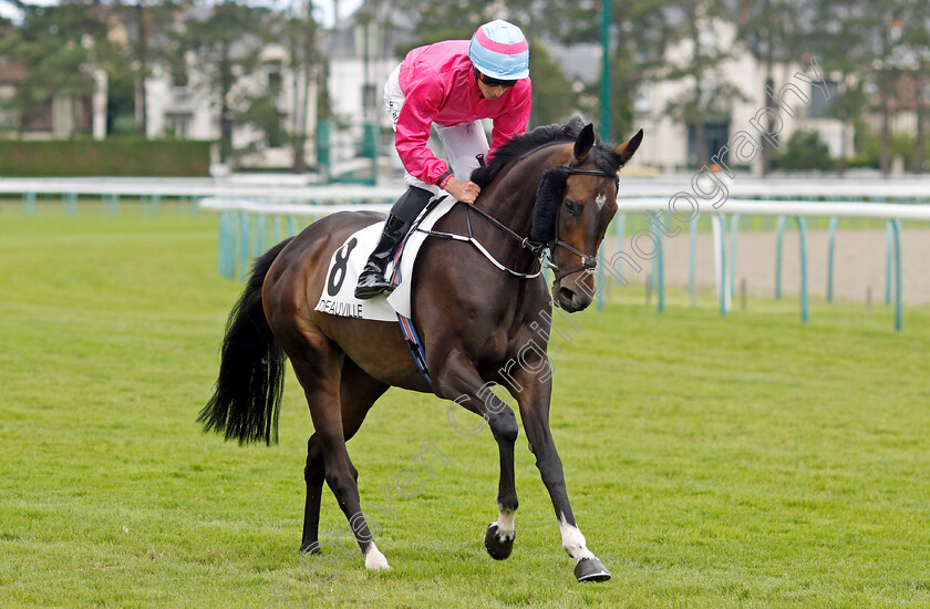
[[[529,441],[530,451],[536,455],[536,466],[539,468],[542,484],[546,485],[549,497],[552,499],[552,507],[561,531],[562,547],[576,560],[575,577],[578,581],[610,579],[610,572],[588,549],[585,536],[575,523],[575,515],[568,500],[561,460],[549,430],[551,379],[540,381],[538,374],[521,371],[516,375],[516,381],[520,388],[515,395],[519,403],[524,431]]]

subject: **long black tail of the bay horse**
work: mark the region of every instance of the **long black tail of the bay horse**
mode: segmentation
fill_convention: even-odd
[[[286,239],[256,258],[246,291],[229,313],[213,398],[197,421],[204,431],[225,432],[239,444],[278,442],[278,410],[285,383],[285,353],[261,304],[261,286]]]

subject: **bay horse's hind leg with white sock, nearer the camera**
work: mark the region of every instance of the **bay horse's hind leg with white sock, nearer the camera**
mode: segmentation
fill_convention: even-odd
[[[388,560],[374,544],[359,500],[358,472],[345,450],[342,407],[339,400],[341,371],[339,349],[320,334],[303,334],[303,344],[286,347],[294,374],[303,386],[313,427],[323,453],[323,477],[339,507],[349,519],[349,528],[365,557],[369,569],[386,569]],[[294,341],[296,342],[296,341]]]

